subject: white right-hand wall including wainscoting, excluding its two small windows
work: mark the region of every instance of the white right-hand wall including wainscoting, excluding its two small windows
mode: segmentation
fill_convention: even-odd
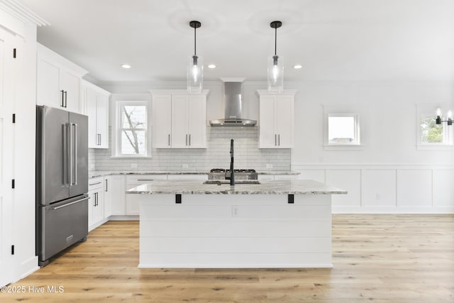
[[[292,170],[348,190],[347,213],[454,213],[454,148],[417,150],[416,104],[454,109],[450,82],[307,82],[298,89]],[[361,113],[362,150],[325,150],[323,105]]]

